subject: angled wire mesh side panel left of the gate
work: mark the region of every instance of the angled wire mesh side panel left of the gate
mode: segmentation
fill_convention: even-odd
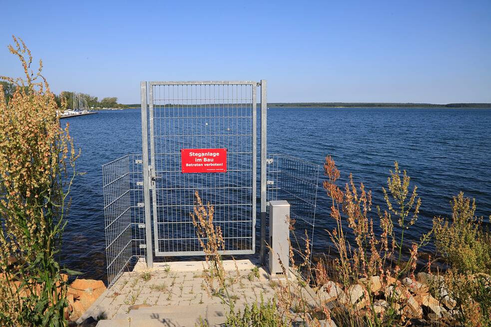
[[[109,285],[133,259],[145,256],[141,163],[141,155],[127,155],[102,166]]]

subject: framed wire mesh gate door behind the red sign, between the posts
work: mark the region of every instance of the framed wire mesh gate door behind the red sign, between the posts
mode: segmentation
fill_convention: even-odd
[[[155,255],[203,254],[195,192],[214,206],[222,253],[254,253],[256,83],[151,82],[149,106]],[[226,172],[183,173],[182,149],[227,149]]]

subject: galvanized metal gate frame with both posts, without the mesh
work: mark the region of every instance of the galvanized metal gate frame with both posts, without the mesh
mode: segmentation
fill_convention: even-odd
[[[185,256],[185,255],[199,255],[199,253],[187,253],[187,252],[160,252],[158,251],[158,239],[155,237],[153,246],[152,244],[152,215],[150,212],[150,189],[152,190],[152,204],[153,204],[153,228],[157,229],[157,206],[156,206],[156,190],[155,190],[155,151],[153,142],[153,86],[155,85],[252,85],[252,114],[253,114],[253,138],[252,138],[252,249],[251,250],[236,250],[233,254],[254,254],[256,243],[256,220],[257,220],[257,100],[256,92],[257,87],[261,86],[261,241],[260,241],[260,257],[261,261],[265,263],[266,253],[266,116],[267,116],[267,103],[266,103],[266,80],[262,79],[260,82],[255,81],[141,81],[141,123],[142,123],[142,155],[143,155],[143,185],[144,185],[144,205],[145,205],[145,237],[146,237],[146,263],[148,268],[153,267],[153,252],[155,256]],[[148,89],[148,92],[147,92]],[[149,112],[149,124],[150,135],[148,135],[147,126],[147,94],[148,94],[148,112]],[[151,164],[148,163],[148,137],[150,137],[150,157]],[[219,251],[221,254],[230,254],[229,251]]]

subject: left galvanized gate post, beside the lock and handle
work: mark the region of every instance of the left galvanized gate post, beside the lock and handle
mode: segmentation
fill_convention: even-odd
[[[145,204],[145,243],[147,267],[153,267],[152,218],[150,215],[150,174],[148,169],[147,84],[140,83],[141,92],[141,144],[143,158],[143,198]]]

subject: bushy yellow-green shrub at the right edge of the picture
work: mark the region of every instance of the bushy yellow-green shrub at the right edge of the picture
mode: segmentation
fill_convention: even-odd
[[[451,219],[433,219],[435,245],[449,266],[438,287],[455,301],[462,326],[491,326],[491,237],[475,216],[474,200],[460,192],[451,205]]]

